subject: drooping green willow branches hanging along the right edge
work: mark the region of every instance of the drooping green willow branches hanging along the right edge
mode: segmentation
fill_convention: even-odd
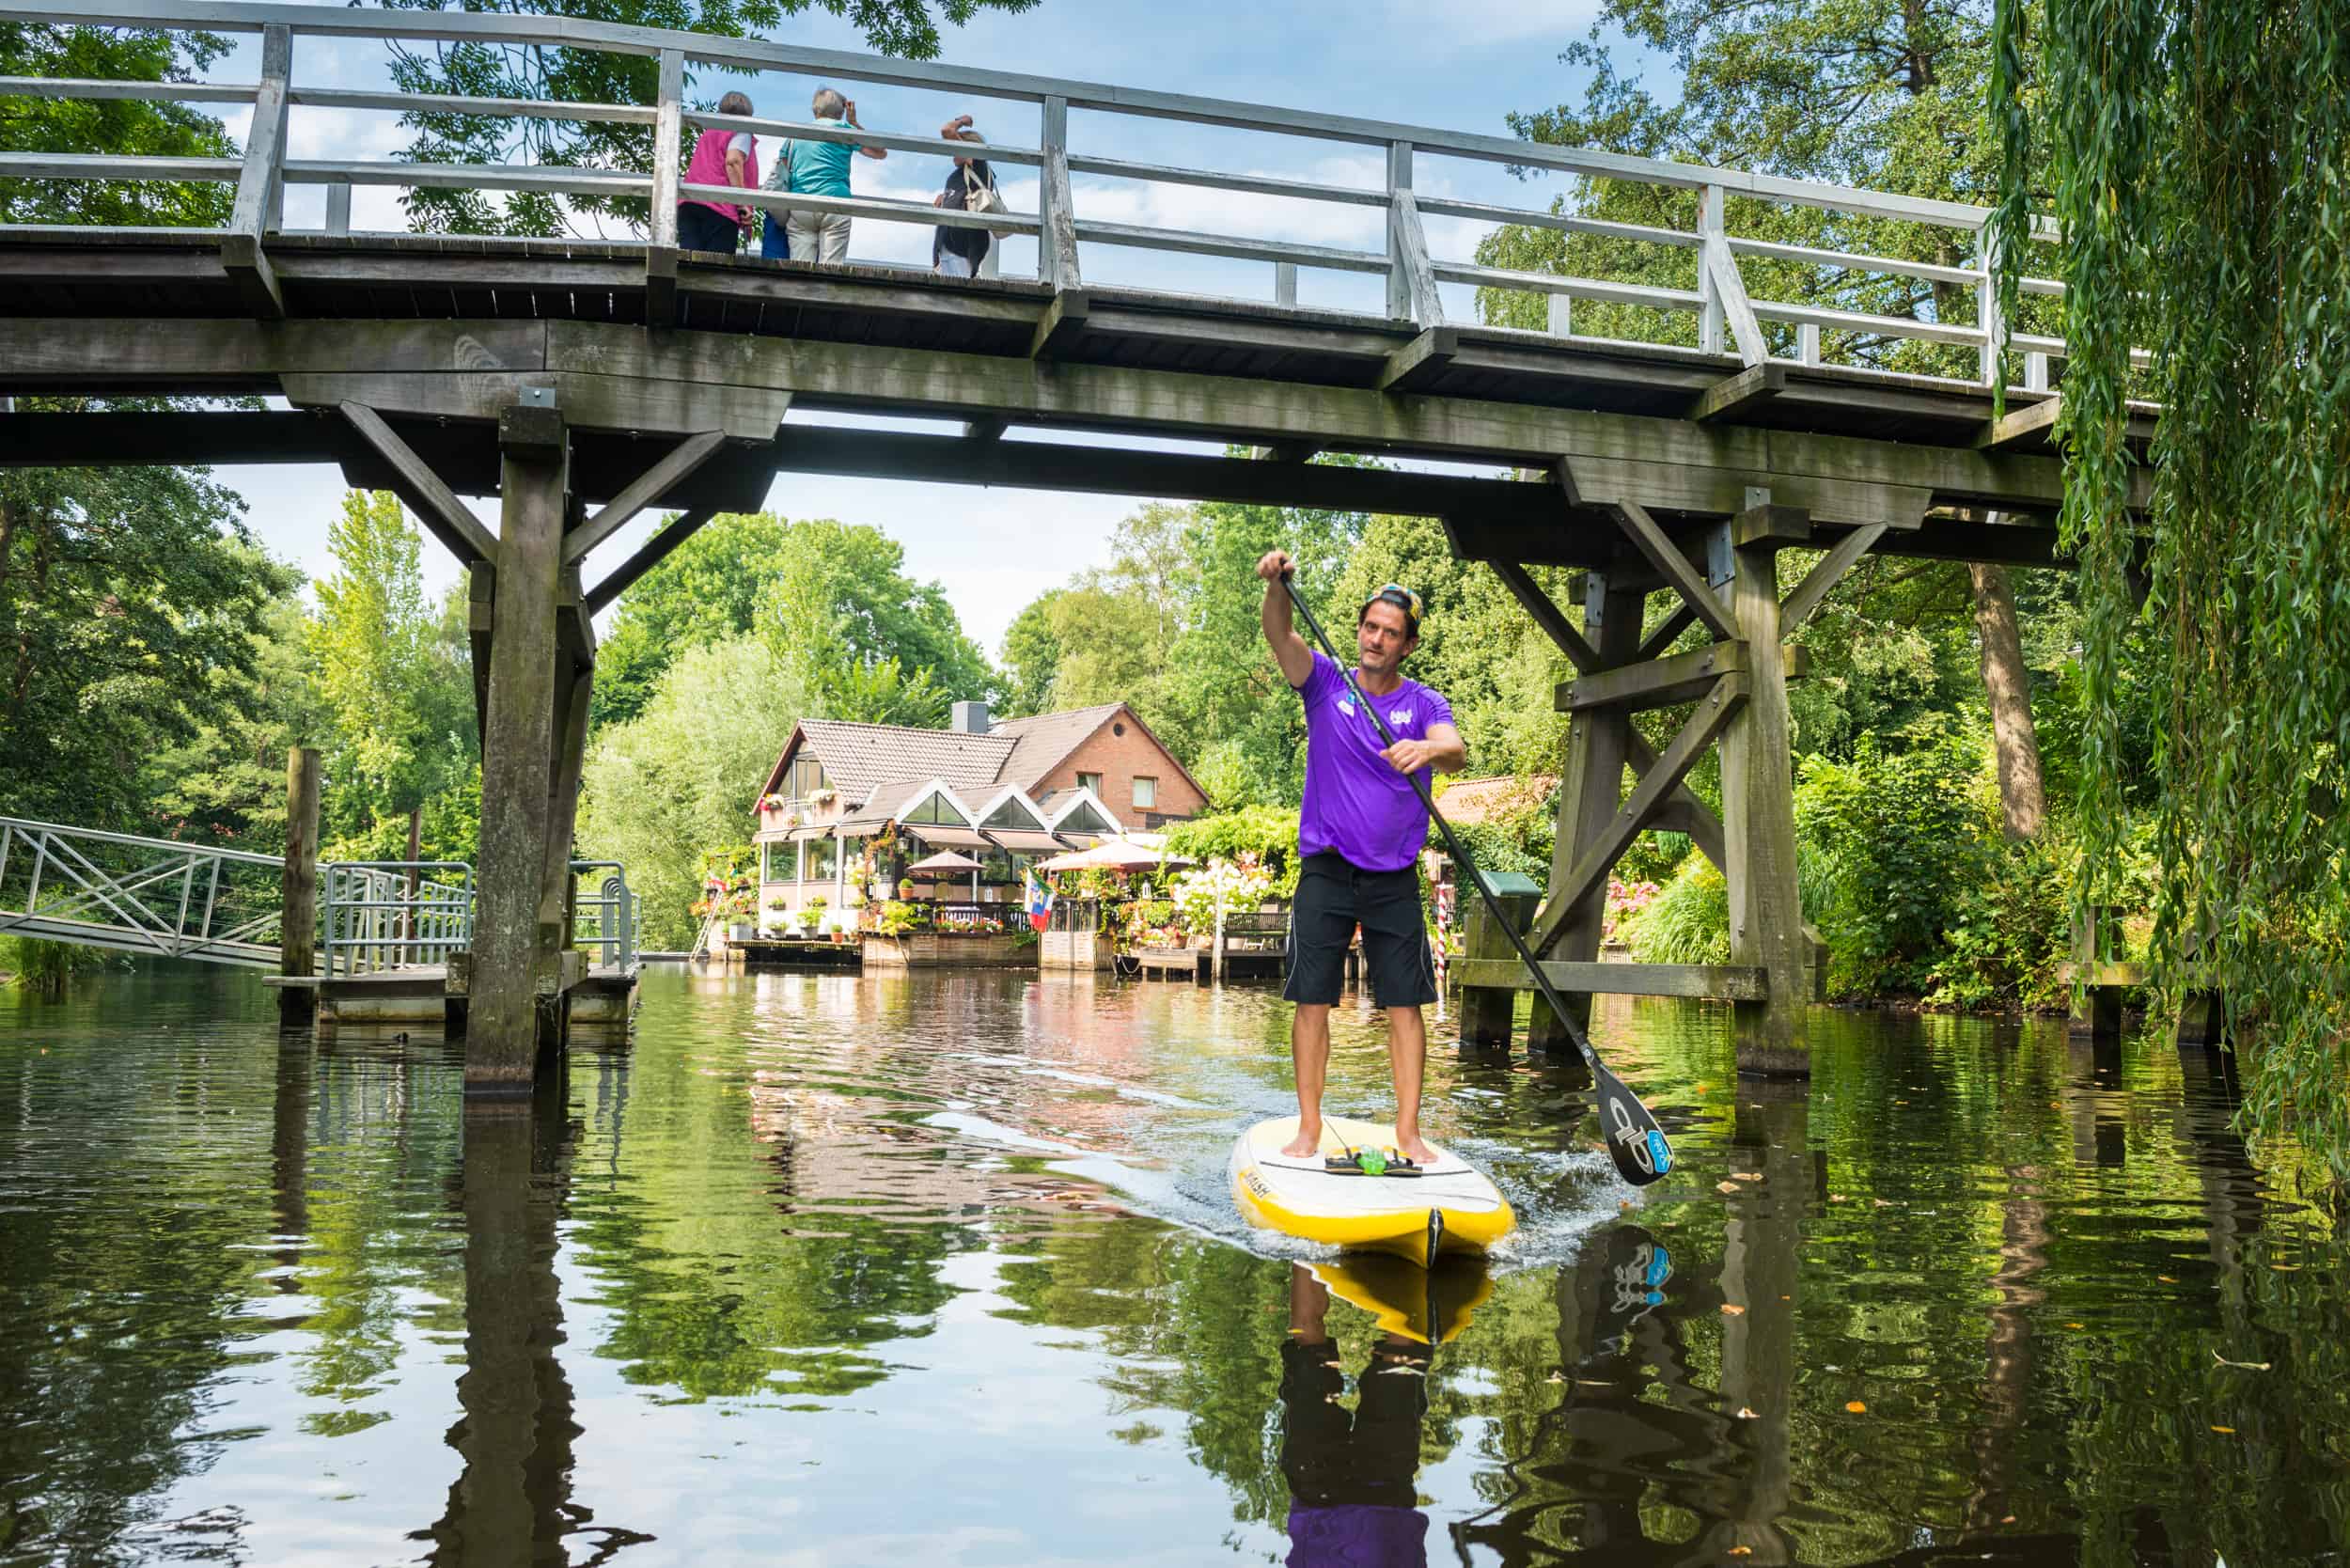
[[[2021,235],[2044,190],[2063,230],[2082,898],[2106,900],[2143,811],[2162,867],[2157,978],[2218,985],[2258,1020],[2249,1119],[2298,1133],[2350,1182],[2341,24],[2308,0],[2049,0],[2033,31],[2002,7],[2002,71],[2042,92],[2000,118],[2000,212]],[[2146,512],[2131,512],[2131,397],[2162,404]],[[2134,682],[2160,712],[2143,802]]]

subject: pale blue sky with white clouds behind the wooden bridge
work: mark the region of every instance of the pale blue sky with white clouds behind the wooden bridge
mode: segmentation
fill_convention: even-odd
[[[933,7],[935,9],[935,7]],[[1112,82],[1159,92],[1278,103],[1325,113],[1351,113],[1408,125],[1506,136],[1504,115],[1532,110],[1582,94],[1582,73],[1570,73],[1558,54],[1589,33],[1596,0],[1187,0],[1184,5],[1041,0],[1025,14],[982,12],[966,28],[942,28],[942,63],[994,71]],[[778,42],[865,52],[862,35],[822,9],[771,33]],[[258,42],[247,40],[216,61],[214,80],[251,82]],[[1643,61],[1629,61],[1640,66]],[[294,82],[374,87],[385,82],[381,42],[301,40]],[[752,80],[698,78],[689,96],[714,96],[726,87],[752,94],[761,115],[804,118],[811,78],[766,73]],[[964,101],[902,87],[839,87],[858,101],[870,129],[935,134],[954,113],[973,113],[982,134],[1010,146],[1036,146],[1036,106]],[[223,120],[242,139],[247,108]],[[1069,139],[1079,153],[1133,162],[1213,167],[1281,174],[1323,183],[1379,186],[1384,160],[1375,148],[1271,136],[1220,127],[1191,127],[1126,115],[1072,113]],[[296,108],[289,120],[294,158],[395,158],[407,132],[390,113]],[[898,153],[888,160],[855,160],[855,193],[928,202],[945,176],[945,160]],[[999,183],[1015,212],[1034,212],[1034,172],[1003,167]],[[1464,195],[1516,207],[1544,207],[1558,190],[1556,176],[1520,181],[1499,165],[1422,158],[1422,193]],[[1347,249],[1382,249],[1379,212],[1323,202],[1288,202],[1227,190],[1144,186],[1079,176],[1076,209],[1086,219],[1152,223],[1210,233],[1281,237]],[[324,221],[324,190],[296,186],[287,195],[287,228]],[[362,186],[352,200],[352,228],[407,228],[390,188]],[[1429,219],[1434,256],[1469,259],[1485,226]],[[928,261],[931,230],[858,221],[853,259]],[[1003,244],[1006,275],[1034,273],[1034,242]],[[1168,256],[1121,247],[1086,244],[1088,282],[1168,287],[1201,294],[1271,299],[1264,263],[1203,256]],[[1382,299],[1375,275],[1302,270],[1300,303],[1370,306]],[[1445,284],[1445,313],[1469,320],[1469,292]],[[794,416],[794,421],[801,416]],[[280,557],[313,578],[331,571],[327,524],[343,501],[341,473],[331,465],[221,468],[219,477],[249,503],[249,524]],[[905,548],[905,569],[916,581],[938,581],[980,646],[996,651],[1003,628],[1039,592],[1069,574],[1109,559],[1112,529],[1142,498],[1067,496],[1020,489],[912,484],[895,480],[830,480],[778,475],[766,508],[785,517],[837,517],[874,524]],[[496,501],[477,498],[475,510],[496,527]],[[597,550],[597,559],[620,555],[653,527],[634,524]],[[439,590],[458,576],[439,545],[425,550],[425,583]]]

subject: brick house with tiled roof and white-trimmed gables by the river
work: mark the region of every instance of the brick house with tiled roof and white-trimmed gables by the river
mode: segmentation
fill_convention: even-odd
[[[1126,703],[992,724],[956,703],[947,729],[801,719],[759,790],[759,907],[834,914],[895,891],[938,851],[980,860],[933,896],[1020,896],[1027,865],[1208,804]],[[966,891],[971,889],[971,891]]]

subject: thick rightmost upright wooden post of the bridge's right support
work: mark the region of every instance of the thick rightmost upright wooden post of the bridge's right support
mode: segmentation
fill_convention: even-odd
[[[1730,611],[1739,637],[1755,651],[1746,670],[1746,705],[1723,731],[1723,846],[1730,865],[1730,961],[1762,969],[1762,1001],[1732,1004],[1737,1063],[1744,1074],[1810,1077],[1805,985],[1810,943],[1795,884],[1795,778],[1786,712],[1786,661],[1779,656],[1779,548],[1795,543],[1774,527],[1810,520],[1781,517],[1760,505],[1732,520]]]

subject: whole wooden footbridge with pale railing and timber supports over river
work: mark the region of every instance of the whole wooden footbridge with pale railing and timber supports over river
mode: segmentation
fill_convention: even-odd
[[[562,936],[559,884],[595,670],[590,621],[707,517],[757,508],[778,473],[1441,517],[1455,550],[1490,562],[1579,670],[1553,693],[1574,724],[1558,860],[1530,917],[1535,947],[1570,992],[1730,999],[1739,1063],[1755,1072],[1805,1070],[1810,950],[1795,889],[1786,708],[1800,661],[1788,637],[1871,550],[2056,559],[2061,468],[2049,449],[2056,397],[2047,388],[2063,343],[2002,331],[1979,207],[571,19],[240,0],[59,0],[0,5],[0,19],[261,38],[251,82],[0,82],[0,96],[254,108],[244,153],[230,160],[0,153],[0,176],[14,179],[235,183],[235,216],[219,230],[0,228],[0,397],[266,393],[289,409],[0,414],[0,463],[334,461],[352,484],[397,491],[465,564],[484,750],[472,1088],[519,1086],[533,1074],[536,976],[555,961]],[[388,42],[602,52],[637,61],[651,101],[428,99],[310,85],[294,73],[296,38],[310,40],[306,61],[317,47],[381,56]],[[691,125],[933,158],[949,150],[935,136],[693,113],[689,63],[759,73],[754,99],[761,85],[771,99],[783,92],[778,78],[794,99],[811,78],[827,78],[1018,106],[1006,115],[1032,113],[1036,136],[987,155],[1001,169],[1034,169],[1034,209],[961,214],[682,186],[677,150]],[[355,110],[642,125],[649,174],[289,153],[296,115]],[[1072,110],[1097,146],[1074,146]],[[1384,181],[1311,183],[1114,155],[1121,143],[1152,146],[1170,120],[1290,146],[1372,148]],[[1694,193],[1697,223],[1645,228],[1441,195],[1445,169],[1464,162]],[[1088,216],[1088,193],[1133,183],[1368,209],[1384,242],[1342,249]],[[284,193],[301,186],[324,186],[320,228],[287,228]],[[649,202],[651,226],[642,242],[352,233],[357,186],[623,195]],[[1034,237],[1039,266],[1034,277],[949,280],[691,254],[677,249],[679,197],[841,212],[858,223],[980,226]],[[1739,209],[1835,214],[1854,233],[1875,221],[1932,226],[1965,261],[1741,237],[1730,230],[1732,200]],[[1697,287],[1438,256],[1429,216],[1687,252]],[[1267,287],[1257,299],[1088,287],[1088,259],[1112,247],[1262,263]],[[1927,284],[1920,296],[1929,299],[1918,317],[1760,299],[1741,273],[1755,259],[1824,277],[1911,280]],[[1328,270],[1384,277],[1384,308],[1302,306],[1300,273]],[[1448,282],[1542,294],[1551,331],[1445,320]],[[2061,287],[2030,280],[2026,292]],[[1694,317],[1697,346],[1579,336],[1577,301]],[[1852,343],[1885,339],[1953,346],[1969,374],[1896,376],[1840,362]],[[1995,400],[2002,341],[2021,357],[2023,386]],[[921,423],[862,428],[837,423],[839,414]],[[1168,437],[1196,449],[1168,449]],[[1441,468],[1311,461],[1325,451],[1434,458]],[[482,527],[463,494],[496,494],[501,527]],[[653,508],[679,515],[606,564],[606,541]],[[1791,548],[1824,555],[1788,590],[1779,552]],[[1579,625],[1530,567],[1589,574]],[[1652,595],[1664,602],[1654,618]],[[1673,654],[1690,628],[1701,628],[1704,642]],[[1687,712],[1661,750],[1631,724],[1652,708]],[[1685,788],[1716,745],[1720,816]],[[1690,832],[1725,870],[1730,966],[1591,961],[1607,870],[1650,827]],[[1523,973],[1509,959],[1471,959],[1464,980],[1509,987]]]

